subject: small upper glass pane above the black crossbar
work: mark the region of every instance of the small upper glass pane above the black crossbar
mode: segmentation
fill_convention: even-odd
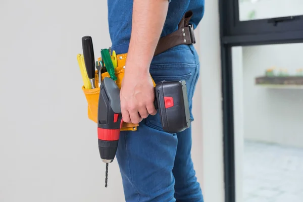
[[[239,20],[303,15],[302,0],[238,0]]]

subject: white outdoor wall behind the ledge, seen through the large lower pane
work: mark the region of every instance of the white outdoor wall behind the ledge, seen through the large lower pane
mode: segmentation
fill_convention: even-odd
[[[303,90],[255,85],[266,69],[295,74],[303,67],[303,43],[243,47],[244,136],[246,139],[303,146]]]

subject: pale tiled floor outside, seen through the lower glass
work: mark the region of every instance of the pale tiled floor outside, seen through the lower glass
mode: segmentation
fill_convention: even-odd
[[[303,202],[303,148],[245,141],[244,202]]]

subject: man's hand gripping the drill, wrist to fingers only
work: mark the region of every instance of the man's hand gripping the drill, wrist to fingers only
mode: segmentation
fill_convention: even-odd
[[[125,69],[128,68],[127,66]],[[155,115],[155,90],[148,72],[126,72],[123,78],[120,100],[123,121],[139,123],[149,114]]]

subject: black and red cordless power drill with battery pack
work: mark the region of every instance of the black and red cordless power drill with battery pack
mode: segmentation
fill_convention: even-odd
[[[190,126],[190,115],[185,81],[162,81],[155,87],[155,107],[160,114],[163,130],[178,133]],[[113,162],[122,125],[120,89],[111,78],[104,78],[100,85],[98,102],[98,146],[102,161]]]

